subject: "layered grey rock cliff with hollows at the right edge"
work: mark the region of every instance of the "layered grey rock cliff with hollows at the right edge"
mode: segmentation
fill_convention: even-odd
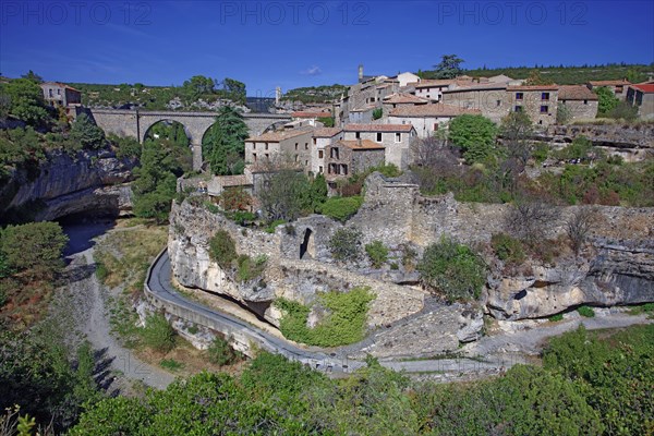
[[[528,278],[489,279],[488,312],[498,319],[537,318],[579,305],[654,301],[654,241],[596,240],[592,258],[534,266]],[[566,262],[569,261],[569,262]]]

